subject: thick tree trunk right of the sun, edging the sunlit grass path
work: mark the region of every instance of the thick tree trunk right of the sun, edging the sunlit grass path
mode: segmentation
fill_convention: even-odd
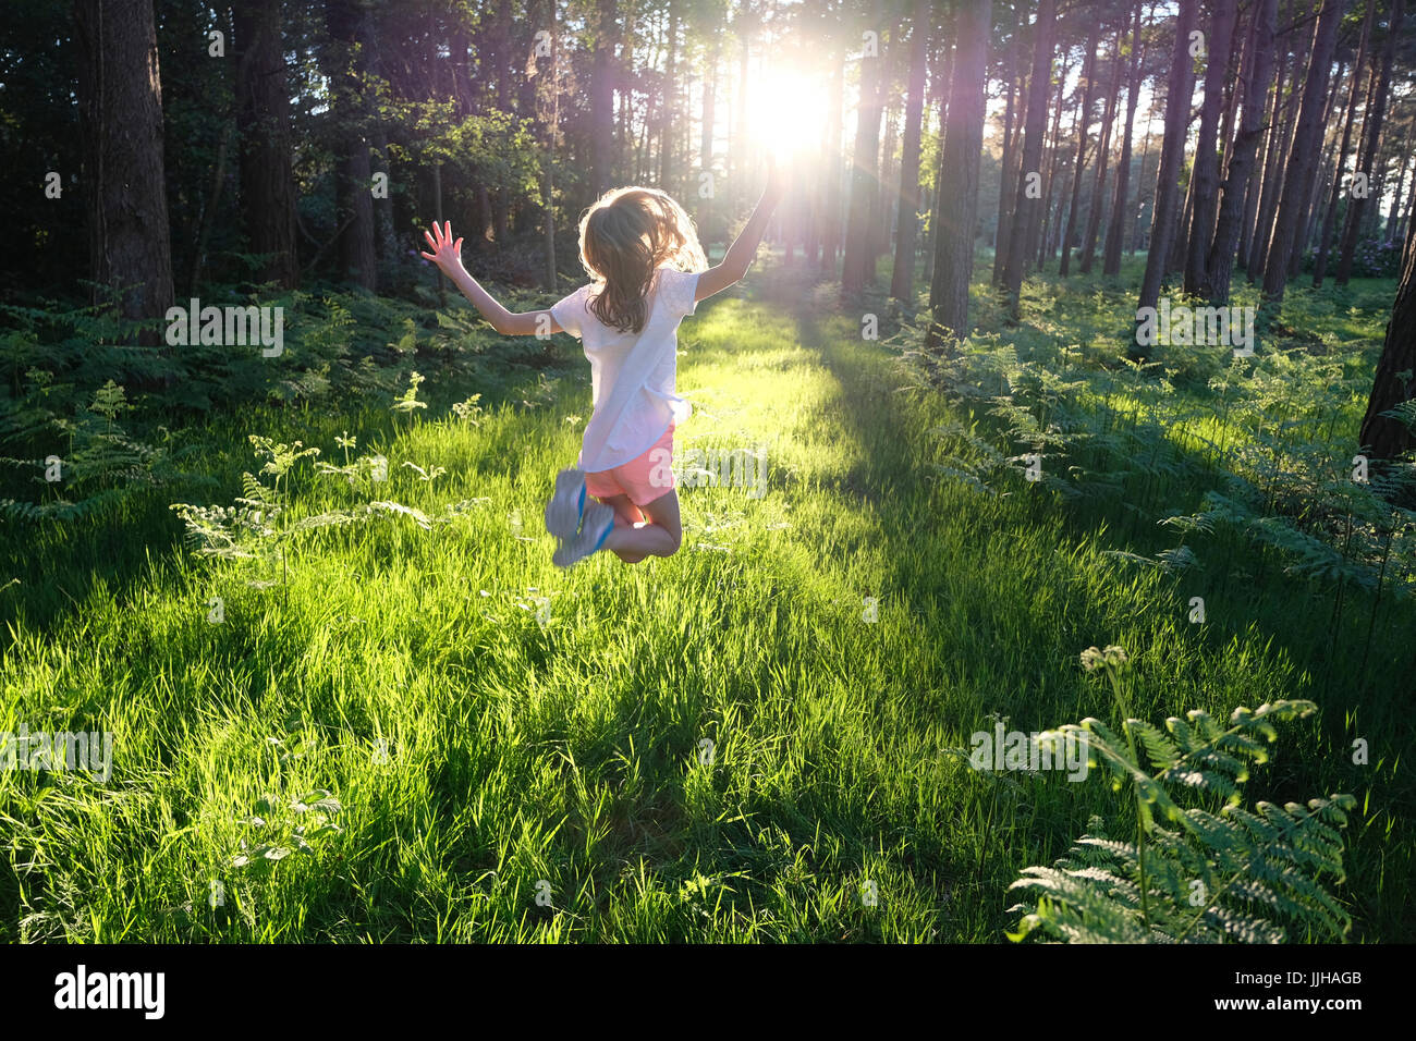
[[[929,288],[932,344],[943,330],[961,340],[969,334],[969,282],[978,212],[978,161],[983,150],[984,98],[988,78],[991,0],[960,4],[956,18],[959,54],[954,59],[949,113],[939,154],[939,184],[950,186],[952,200],[940,212],[935,242],[935,276]]]

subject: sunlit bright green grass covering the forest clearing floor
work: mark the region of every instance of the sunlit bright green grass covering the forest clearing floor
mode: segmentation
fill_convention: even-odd
[[[998,339],[1089,344],[1072,378],[1100,371],[1124,290],[1095,282],[1029,283],[1024,324]],[[1136,660],[1148,719],[1317,700],[1321,719],[1286,732],[1250,792],[1357,795],[1337,892],[1357,939],[1412,938],[1409,601],[1376,605],[1376,653],[1355,674],[1371,595],[1347,591],[1340,642],[1334,589],[1264,575],[1235,540],[1195,579],[1209,620],[1189,625],[1189,576],[1106,555],[1154,551],[1151,521],[1021,479],[988,496],[940,477],[930,431],[966,414],[902,392],[892,344],[862,341],[828,293],[758,288],[681,330],[697,414],[677,452],[762,448],[767,491],[683,489],[668,559],[551,565],[541,510],[590,414],[569,343],[555,378],[484,399],[479,425],[449,405],[486,388],[425,367],[430,408],[412,416],[261,408],[185,432],[184,467],[214,489],[69,525],[0,521],[0,586],[21,579],[0,588],[0,731],[115,734],[106,785],[0,770],[0,938],[1000,942],[1020,870],[1062,855],[1093,813],[1124,820],[1127,796],[1099,776],[977,773],[952,749],[994,717],[1116,722],[1078,664],[1109,643]],[[1318,340],[1355,368],[1383,322],[1376,305],[1332,306]],[[1182,385],[1144,408],[1245,436],[1206,397]],[[1100,385],[1082,404],[1119,405]],[[252,582],[280,572],[181,545],[167,503],[239,496],[248,433],[341,462],[346,431],[388,457],[377,497],[428,530],[395,516],[306,533],[269,586]],[[421,482],[405,460],[446,473]],[[1151,507],[1205,487],[1185,472]],[[372,494],[310,460],[289,489],[297,516]],[[1351,762],[1355,736],[1369,766]],[[337,799],[337,833],[232,867],[244,840],[292,846],[319,819],[290,807],[312,792]]]

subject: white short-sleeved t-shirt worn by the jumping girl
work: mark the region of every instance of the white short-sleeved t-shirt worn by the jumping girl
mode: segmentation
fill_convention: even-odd
[[[674,391],[678,374],[678,323],[694,313],[697,272],[660,268],[649,288],[649,314],[639,333],[622,333],[600,322],[589,309],[593,286],[581,286],[551,307],[551,317],[581,340],[590,360],[595,414],[585,426],[581,469],[590,473],[623,466],[643,455],[670,423],[692,412]],[[624,361],[644,341],[644,364],[624,371]],[[616,394],[620,381],[629,381]],[[616,408],[616,399],[623,401]],[[610,415],[610,412],[615,415]]]

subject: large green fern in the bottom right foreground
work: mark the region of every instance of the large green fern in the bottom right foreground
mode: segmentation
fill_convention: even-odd
[[[1120,647],[1083,652],[1083,666],[1104,670],[1123,711]],[[1296,925],[1340,939],[1351,916],[1324,888],[1344,880],[1340,829],[1357,806],[1349,795],[1243,807],[1240,786],[1250,765],[1267,761],[1276,722],[1306,718],[1311,701],[1236,708],[1226,727],[1192,710],[1165,729],[1126,718],[1121,735],[1087,718],[1059,729],[1085,741],[1090,765],[1130,787],[1137,807],[1136,841],[1106,834],[1092,817],[1086,834],[1052,867],[1027,867],[1011,889],[1028,899],[1010,939],[1042,933],[1070,943],[1280,943]],[[1140,755],[1137,745],[1144,751]],[[1185,802],[1209,799],[1218,812]]]

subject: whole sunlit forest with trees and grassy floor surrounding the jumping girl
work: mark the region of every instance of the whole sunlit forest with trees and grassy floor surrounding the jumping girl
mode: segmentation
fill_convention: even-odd
[[[0,938],[1410,942],[1412,23],[14,6]],[[551,316],[777,181],[558,569],[590,348],[429,229]]]

